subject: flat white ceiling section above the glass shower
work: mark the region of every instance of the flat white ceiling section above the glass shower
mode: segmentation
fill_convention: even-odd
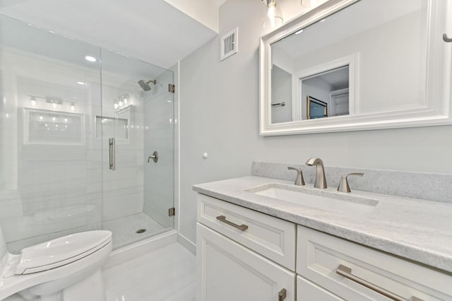
[[[0,0],[0,13],[165,69],[217,35],[164,0]]]

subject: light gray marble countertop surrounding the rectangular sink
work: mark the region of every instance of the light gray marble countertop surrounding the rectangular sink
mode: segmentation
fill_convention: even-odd
[[[193,189],[201,194],[452,273],[451,203],[364,191],[345,194],[337,192],[335,187],[328,187],[327,194],[334,193],[342,199],[357,196],[379,201],[371,213],[350,212],[345,215],[244,191],[271,183],[295,187],[293,182],[281,179],[249,176],[197,184]],[[306,189],[310,188],[314,189],[307,184]]]

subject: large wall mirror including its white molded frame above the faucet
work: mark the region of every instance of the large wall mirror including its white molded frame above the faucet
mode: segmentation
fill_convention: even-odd
[[[331,0],[261,37],[260,134],[452,124],[451,19],[452,0]]]

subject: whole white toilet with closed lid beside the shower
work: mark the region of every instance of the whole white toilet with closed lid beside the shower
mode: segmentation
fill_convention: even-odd
[[[9,254],[0,228],[0,300],[105,300],[100,267],[112,252],[112,232],[76,233]]]

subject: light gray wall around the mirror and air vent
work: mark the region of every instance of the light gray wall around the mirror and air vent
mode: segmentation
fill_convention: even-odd
[[[295,2],[299,6],[299,1]],[[288,13],[294,11],[283,10],[284,16]],[[219,37],[239,26],[239,52],[220,62],[216,37],[181,61],[182,236],[196,241],[196,194],[191,185],[250,175],[253,160],[302,164],[315,156],[328,166],[452,173],[452,126],[259,136],[258,38],[262,17],[261,1],[227,1],[220,7]],[[204,152],[209,155],[206,160]]]

